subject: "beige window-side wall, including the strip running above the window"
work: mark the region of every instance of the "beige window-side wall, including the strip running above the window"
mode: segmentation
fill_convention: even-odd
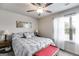
[[[44,36],[44,37],[48,37],[48,38],[53,38],[53,33],[54,33],[53,32],[53,20],[54,20],[54,18],[61,17],[61,16],[64,16],[66,14],[73,13],[73,12],[79,13],[79,6],[40,18],[39,19],[40,35]]]

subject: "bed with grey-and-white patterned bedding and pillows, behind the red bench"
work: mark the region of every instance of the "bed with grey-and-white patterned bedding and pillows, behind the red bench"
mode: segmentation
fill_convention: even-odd
[[[12,37],[12,47],[15,56],[32,56],[37,51],[47,47],[48,45],[55,45],[49,38],[37,37],[33,33],[26,34],[23,37],[23,33],[14,34]],[[32,37],[31,37],[31,36]]]

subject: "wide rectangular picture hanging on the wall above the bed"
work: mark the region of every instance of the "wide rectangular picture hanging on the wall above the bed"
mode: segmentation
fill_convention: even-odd
[[[32,28],[32,22],[16,21],[16,28]]]

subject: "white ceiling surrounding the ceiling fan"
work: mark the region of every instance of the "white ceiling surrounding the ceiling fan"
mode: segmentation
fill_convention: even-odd
[[[79,5],[79,3],[70,3],[67,6],[65,4],[66,3],[54,3],[50,6],[48,6],[46,9],[52,11],[52,13],[50,13],[50,14],[53,14],[53,13],[67,10],[67,9],[70,9],[70,8],[73,8],[73,7],[76,7]],[[43,14],[41,14],[41,16],[38,16],[38,14],[36,12],[26,12],[27,10],[37,9],[36,6],[33,6],[32,4],[29,4],[29,3],[0,3],[0,9],[1,8],[12,11],[12,12],[35,17],[35,18],[40,18],[43,16],[50,15],[49,13],[44,12]]]

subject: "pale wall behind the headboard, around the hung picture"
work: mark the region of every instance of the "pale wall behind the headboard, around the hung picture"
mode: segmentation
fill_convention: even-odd
[[[32,22],[32,28],[16,28],[16,20]],[[38,29],[38,21],[35,18],[0,9],[0,30],[9,32],[26,32]]]

